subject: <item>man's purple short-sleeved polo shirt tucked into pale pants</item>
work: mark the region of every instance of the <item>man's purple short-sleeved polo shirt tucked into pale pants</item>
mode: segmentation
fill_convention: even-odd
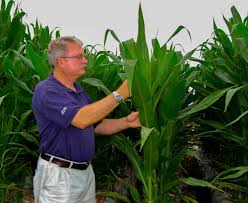
[[[76,162],[92,160],[95,153],[94,127],[76,128],[71,121],[91,100],[74,84],[65,87],[52,74],[35,87],[32,105],[40,134],[40,151]]]

